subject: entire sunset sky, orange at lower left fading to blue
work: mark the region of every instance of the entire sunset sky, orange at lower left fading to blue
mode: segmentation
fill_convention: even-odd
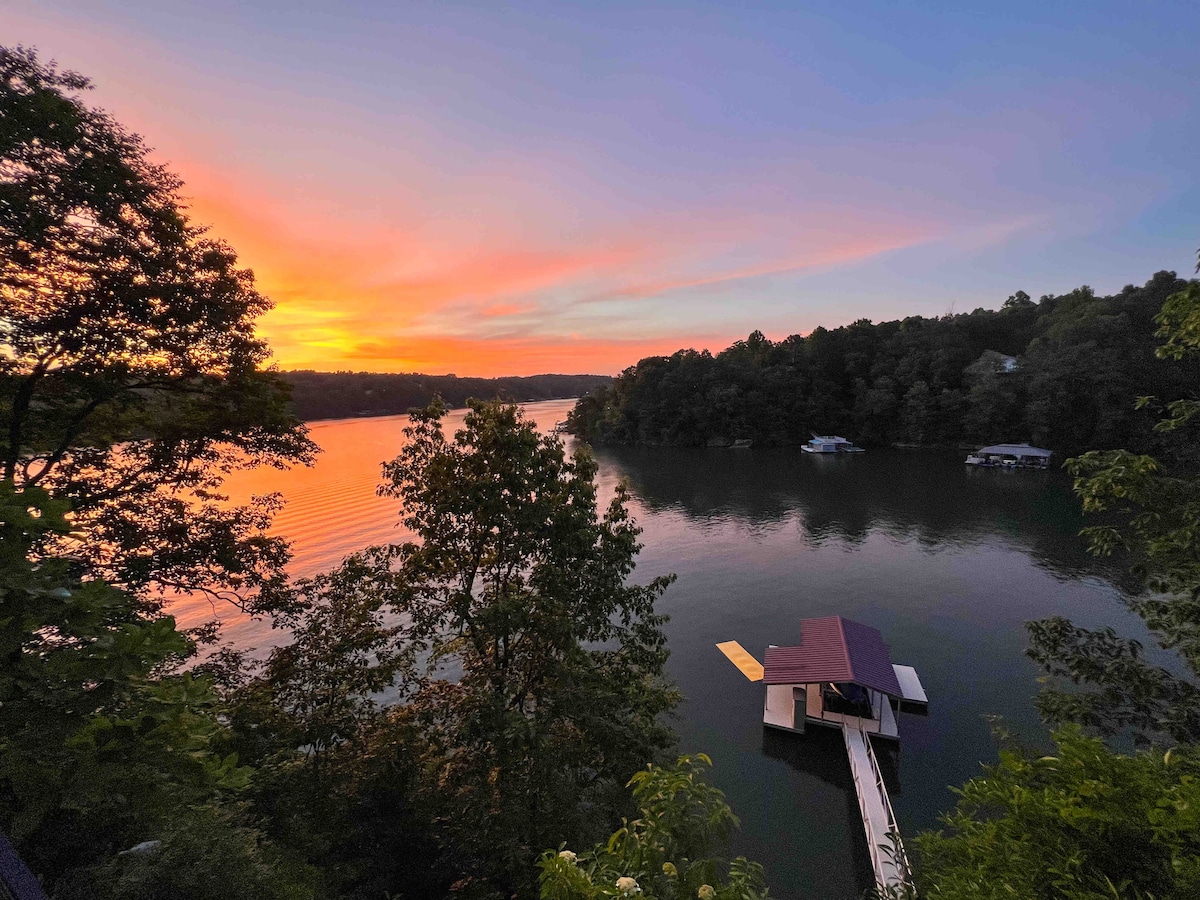
[[[1198,38],[1196,2],[0,0],[186,180],[280,366],[482,376],[1189,274]]]

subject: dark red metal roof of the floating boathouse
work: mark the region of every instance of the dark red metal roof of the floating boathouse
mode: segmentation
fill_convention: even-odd
[[[768,647],[766,684],[853,682],[893,697],[904,696],[883,636],[870,625],[826,616],[800,622],[799,647]]]

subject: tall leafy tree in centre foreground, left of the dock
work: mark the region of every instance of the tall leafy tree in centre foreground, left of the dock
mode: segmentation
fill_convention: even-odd
[[[407,714],[457,863],[508,895],[542,847],[605,828],[671,742],[654,601],[672,578],[626,583],[638,528],[623,487],[599,514],[586,451],[568,458],[512,406],[473,401],[451,438],[443,413],[414,413],[384,467],[419,538],[394,550],[391,602],[397,640],[427,659]]]

